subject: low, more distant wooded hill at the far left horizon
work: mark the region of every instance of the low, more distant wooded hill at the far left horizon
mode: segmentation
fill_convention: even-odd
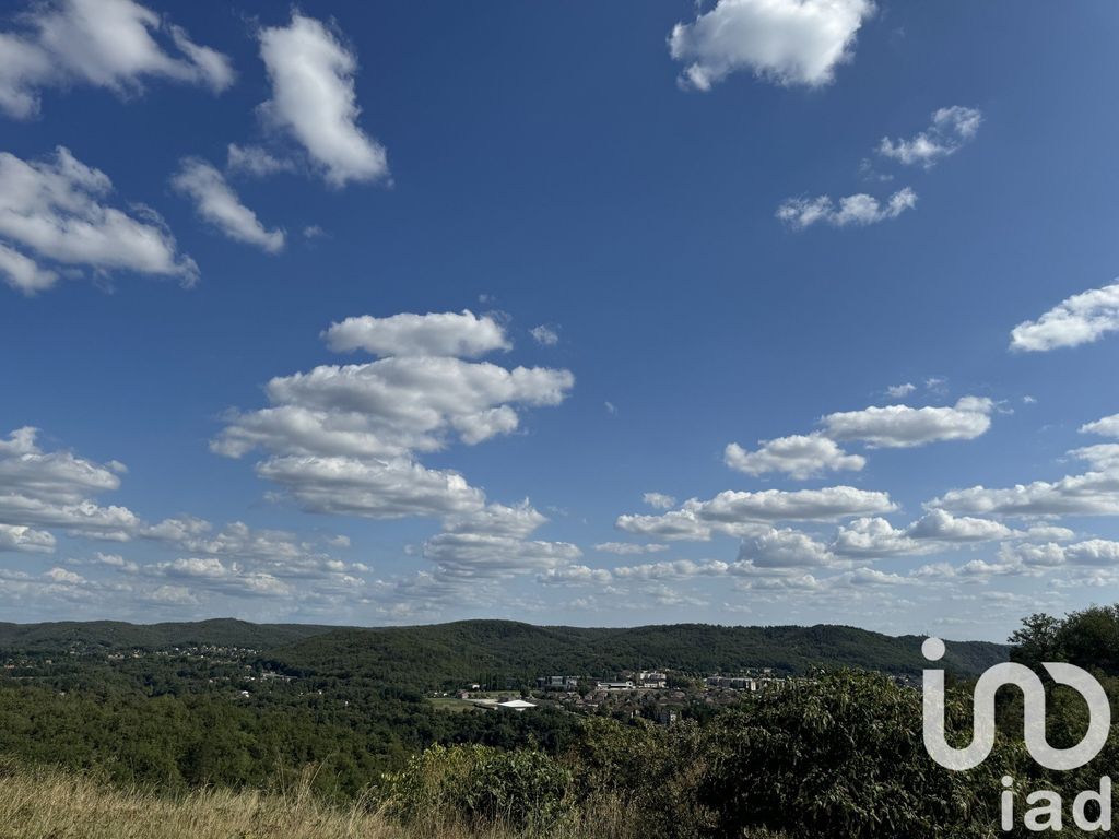
[[[231,618],[149,624],[122,621],[0,623],[0,652],[166,650],[172,647],[269,650],[337,629],[301,623],[248,623]]]

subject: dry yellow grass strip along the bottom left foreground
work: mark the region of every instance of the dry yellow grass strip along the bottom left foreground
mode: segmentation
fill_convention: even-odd
[[[200,790],[178,798],[117,790],[50,769],[0,772],[0,839],[515,839],[493,828],[463,830],[433,813],[411,829],[389,822],[368,802],[330,807],[310,791],[310,776],[285,794]],[[624,807],[590,808],[548,839],[630,835]],[[526,839],[524,836],[520,839]]]

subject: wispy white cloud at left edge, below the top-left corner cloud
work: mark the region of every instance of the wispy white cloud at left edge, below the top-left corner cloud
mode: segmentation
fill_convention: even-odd
[[[34,263],[26,251],[98,274],[177,276],[186,285],[198,279],[198,266],[178,253],[154,211],[139,208],[128,215],[102,204],[112,191],[109,177],[63,147],[54,159],[35,162],[0,152],[0,271],[26,293],[54,282],[54,271]]]

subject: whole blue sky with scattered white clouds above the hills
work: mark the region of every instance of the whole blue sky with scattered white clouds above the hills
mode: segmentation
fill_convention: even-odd
[[[1119,600],[1117,36],[0,2],[0,620]]]

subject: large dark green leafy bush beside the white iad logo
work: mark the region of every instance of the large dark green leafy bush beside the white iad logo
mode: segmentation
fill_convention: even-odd
[[[962,716],[962,705],[950,705],[951,717]],[[699,798],[721,836],[994,836],[998,780],[934,764],[921,719],[921,694],[875,673],[839,672],[760,697],[716,722]]]

